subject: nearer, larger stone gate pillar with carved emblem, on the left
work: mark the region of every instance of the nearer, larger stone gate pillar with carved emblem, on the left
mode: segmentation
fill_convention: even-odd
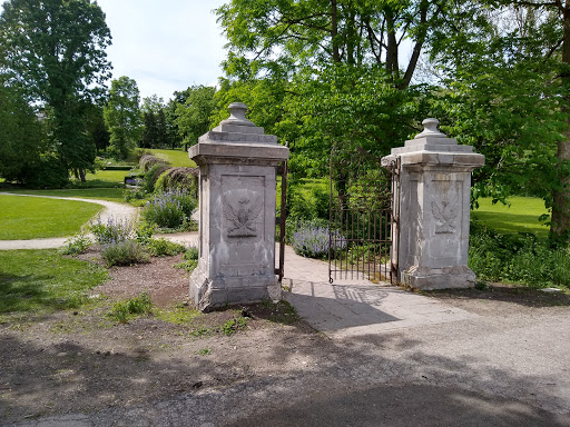
[[[281,297],[275,276],[277,137],[229,105],[230,117],[188,150],[199,166],[199,260],[190,297],[200,310]]]

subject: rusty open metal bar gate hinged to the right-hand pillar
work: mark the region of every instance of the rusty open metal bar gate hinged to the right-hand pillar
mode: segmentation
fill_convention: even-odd
[[[361,149],[331,151],[328,280],[397,280],[397,168]],[[396,210],[397,214],[397,210]],[[393,259],[392,259],[393,258]]]

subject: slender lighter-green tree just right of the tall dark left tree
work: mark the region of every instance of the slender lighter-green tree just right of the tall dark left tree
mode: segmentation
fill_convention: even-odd
[[[104,109],[105,122],[111,133],[110,149],[119,159],[126,159],[142,133],[137,82],[126,76],[111,81]]]

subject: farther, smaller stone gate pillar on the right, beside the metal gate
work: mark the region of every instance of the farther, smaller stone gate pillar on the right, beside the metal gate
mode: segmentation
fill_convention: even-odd
[[[392,149],[384,166],[397,165],[400,195],[396,245],[399,281],[419,289],[468,288],[475,275],[468,267],[471,172],[484,156],[459,146],[425,119],[424,130]],[[400,210],[397,212],[397,210]]]

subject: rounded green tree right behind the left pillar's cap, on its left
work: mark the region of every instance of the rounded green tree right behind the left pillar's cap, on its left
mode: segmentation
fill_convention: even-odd
[[[185,145],[194,146],[209,130],[215,92],[216,88],[193,86],[185,91],[184,102],[176,105],[175,123]]]

